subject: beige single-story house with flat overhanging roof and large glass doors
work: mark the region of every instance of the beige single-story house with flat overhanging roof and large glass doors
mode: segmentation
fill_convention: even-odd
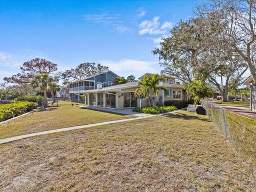
[[[151,75],[151,74],[145,74]],[[145,76],[143,75],[143,76]],[[140,78],[142,78],[141,76]],[[113,79],[114,82],[114,79]],[[160,90],[156,100],[163,105],[164,101],[168,100],[182,100],[183,87],[175,84],[175,79],[173,77],[165,76],[165,81],[161,82],[161,86],[165,87],[167,90]],[[134,92],[138,87],[138,82],[125,83],[121,85],[114,86],[99,86],[98,89],[93,90],[82,90],[82,91],[72,91],[73,94],[87,93],[86,103],[89,106],[95,107],[108,107],[114,109],[125,109],[132,107],[148,106],[149,103],[146,98],[139,99],[134,96]],[[71,94],[71,91],[70,91]],[[150,91],[153,95],[153,90]],[[79,95],[78,95],[79,97]],[[75,98],[76,100],[76,98]]]

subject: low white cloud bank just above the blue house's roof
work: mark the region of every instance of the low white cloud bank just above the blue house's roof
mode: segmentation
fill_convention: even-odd
[[[141,71],[151,73],[155,71],[156,61],[140,61],[132,59],[122,59],[120,61],[100,61],[101,65],[108,66],[110,70],[123,72],[123,71]],[[145,72],[145,73],[146,73]]]

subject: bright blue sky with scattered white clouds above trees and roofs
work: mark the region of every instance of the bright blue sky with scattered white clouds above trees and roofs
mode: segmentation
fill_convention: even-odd
[[[0,82],[44,58],[60,71],[80,63],[119,76],[160,73],[152,50],[203,1],[0,1]]]

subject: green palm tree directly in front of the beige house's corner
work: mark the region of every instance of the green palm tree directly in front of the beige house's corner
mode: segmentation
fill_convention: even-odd
[[[158,95],[159,90],[166,89],[163,86],[160,86],[160,82],[163,82],[164,78],[158,74],[153,75],[145,75],[139,82],[138,82],[138,88],[135,90],[135,95],[143,94],[143,97],[146,97],[149,99],[149,105],[151,107],[151,95],[149,94],[150,90],[153,90],[153,95],[156,97]],[[156,98],[153,97],[153,107],[156,103]]]

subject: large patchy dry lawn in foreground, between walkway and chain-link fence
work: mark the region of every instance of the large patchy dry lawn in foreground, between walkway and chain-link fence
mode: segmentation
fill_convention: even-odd
[[[187,111],[0,145],[0,191],[255,191],[253,166]]]

